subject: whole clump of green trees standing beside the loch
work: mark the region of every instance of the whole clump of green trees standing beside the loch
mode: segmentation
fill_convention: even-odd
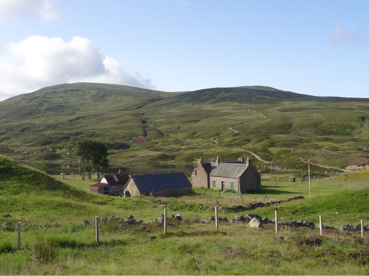
[[[86,174],[91,179],[91,170],[95,170],[97,178],[100,179],[100,171],[109,166],[107,145],[99,140],[89,139],[81,135],[72,137],[66,150],[69,157],[77,164],[82,180],[85,180]]]

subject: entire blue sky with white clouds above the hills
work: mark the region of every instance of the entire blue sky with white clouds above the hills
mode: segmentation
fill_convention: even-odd
[[[77,81],[369,98],[369,1],[2,0],[0,100]]]

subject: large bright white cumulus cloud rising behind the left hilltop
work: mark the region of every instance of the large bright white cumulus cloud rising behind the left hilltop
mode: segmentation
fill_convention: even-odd
[[[8,46],[0,57],[0,100],[45,86],[71,82],[100,82],[154,88],[151,79],[129,74],[112,57],[101,54],[92,41],[79,36],[29,36]]]

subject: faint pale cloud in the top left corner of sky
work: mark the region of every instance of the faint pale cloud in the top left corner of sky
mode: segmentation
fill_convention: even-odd
[[[18,16],[37,16],[42,21],[59,17],[59,5],[50,0],[1,0],[0,22]]]

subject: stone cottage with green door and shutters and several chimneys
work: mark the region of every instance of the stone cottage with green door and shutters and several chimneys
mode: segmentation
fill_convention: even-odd
[[[234,190],[245,194],[251,191],[261,190],[261,175],[252,166],[252,160],[243,158],[237,161],[220,162],[219,156],[215,162],[203,162],[197,159],[196,168],[191,174],[193,187],[211,188],[225,191]]]

